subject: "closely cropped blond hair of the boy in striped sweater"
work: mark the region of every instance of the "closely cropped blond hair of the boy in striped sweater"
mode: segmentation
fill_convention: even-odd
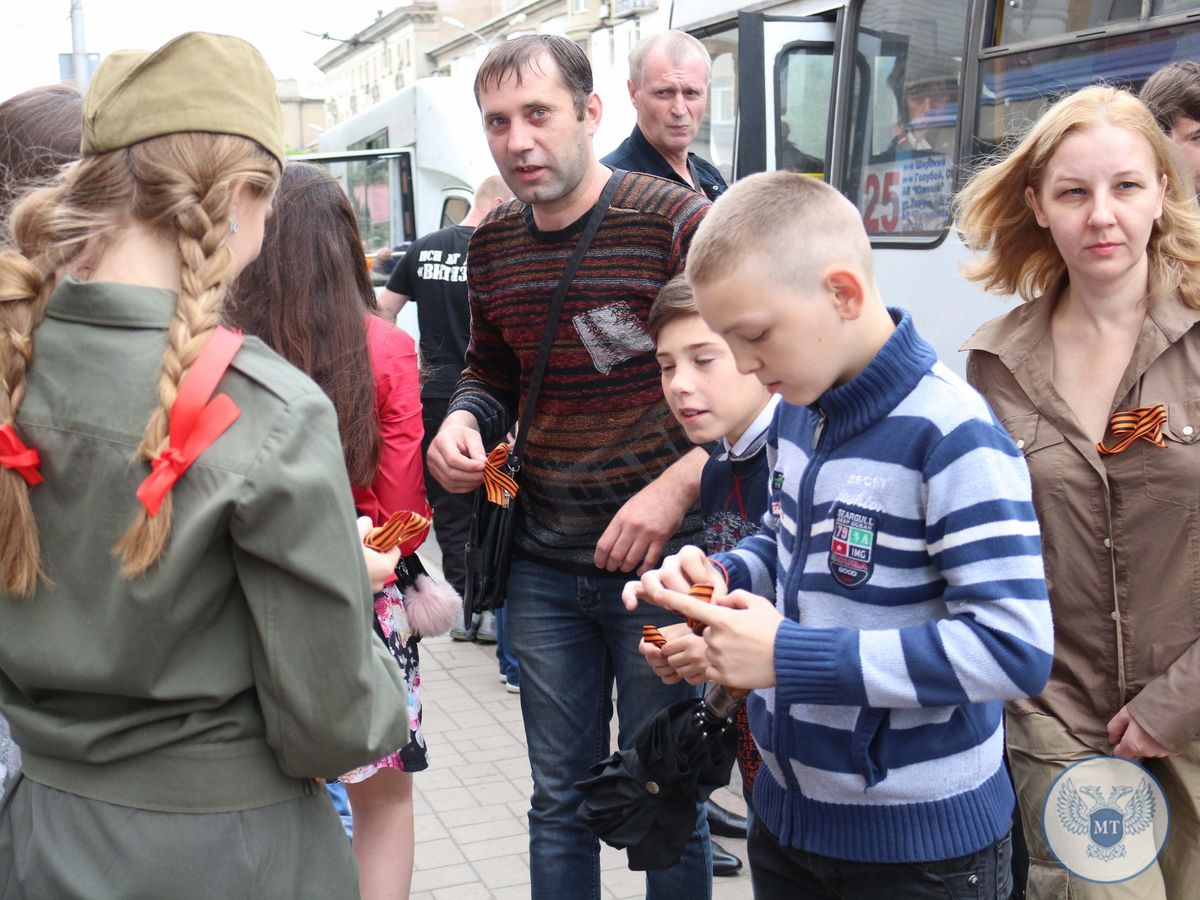
[[[854,205],[794,172],[737,181],[704,216],[688,253],[692,286],[728,277],[748,260],[772,281],[808,288],[834,263],[862,272],[874,288],[871,242]]]

